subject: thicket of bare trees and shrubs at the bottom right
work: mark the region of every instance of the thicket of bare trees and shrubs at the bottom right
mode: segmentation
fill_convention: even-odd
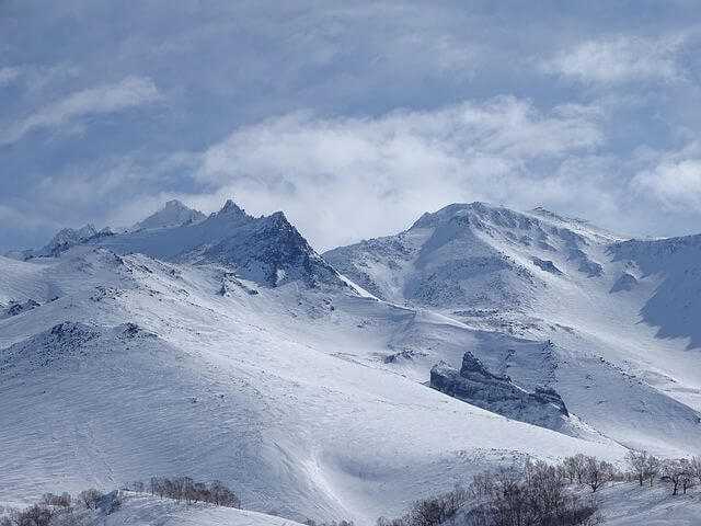
[[[475,474],[467,489],[416,501],[403,516],[380,517],[378,526],[589,526],[601,518],[595,494],[607,483],[666,483],[671,494],[701,484],[701,458],[659,459],[631,451],[627,468],[587,455],[558,465],[526,461]],[[578,490],[590,490],[589,495]]]

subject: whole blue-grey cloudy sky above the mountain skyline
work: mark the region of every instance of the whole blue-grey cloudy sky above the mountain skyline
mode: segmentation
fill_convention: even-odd
[[[701,10],[0,0],[0,252],[179,198],[319,250],[484,201],[701,232]]]

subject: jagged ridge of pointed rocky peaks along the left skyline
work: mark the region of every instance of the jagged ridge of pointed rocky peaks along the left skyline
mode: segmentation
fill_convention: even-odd
[[[64,229],[44,249],[27,251],[22,259],[57,258],[78,244],[179,263],[222,264],[233,267],[238,277],[267,286],[297,281],[345,286],[283,211],[253,217],[232,199],[208,217],[179,201],[169,201],[159,211],[120,233],[97,231],[92,225]]]

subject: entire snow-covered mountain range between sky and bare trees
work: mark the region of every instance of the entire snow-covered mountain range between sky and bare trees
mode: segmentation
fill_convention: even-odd
[[[0,258],[0,504],[182,473],[365,525],[525,455],[701,453],[694,298],[655,299],[694,250],[472,204],[322,258],[228,202]],[[468,352],[489,396],[429,386]]]

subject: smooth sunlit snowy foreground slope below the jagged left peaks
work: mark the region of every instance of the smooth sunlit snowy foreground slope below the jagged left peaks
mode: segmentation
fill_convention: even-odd
[[[62,295],[0,321],[1,502],[187,473],[370,524],[513,456],[622,455],[397,374],[374,357],[413,315],[345,289],[222,296],[226,268],[91,247],[22,264]]]

